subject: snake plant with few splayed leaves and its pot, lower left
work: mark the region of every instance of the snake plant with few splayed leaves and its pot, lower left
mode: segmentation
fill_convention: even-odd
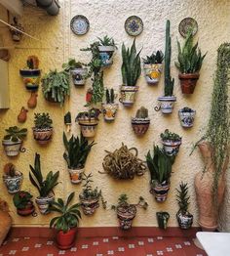
[[[58,185],[59,172],[53,173],[50,171],[44,179],[41,172],[40,154],[35,153],[34,166],[29,165],[29,180],[31,184],[38,190],[39,196],[35,201],[41,214],[47,214],[49,204],[54,201],[54,188]]]

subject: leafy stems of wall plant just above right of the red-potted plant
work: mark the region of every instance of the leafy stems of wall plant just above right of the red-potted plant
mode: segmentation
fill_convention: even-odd
[[[91,200],[91,199],[101,199],[101,203],[104,209],[106,209],[107,202],[104,200],[102,196],[101,190],[98,191],[97,187],[95,189],[92,188],[91,184],[94,182],[92,180],[93,174],[90,173],[86,175],[83,173],[82,180],[83,180],[83,191],[79,194],[80,199]]]

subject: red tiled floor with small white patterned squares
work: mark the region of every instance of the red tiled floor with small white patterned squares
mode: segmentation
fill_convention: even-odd
[[[78,238],[70,250],[58,250],[55,241],[40,237],[19,237],[5,241],[0,256],[207,256],[186,237],[91,237]]]

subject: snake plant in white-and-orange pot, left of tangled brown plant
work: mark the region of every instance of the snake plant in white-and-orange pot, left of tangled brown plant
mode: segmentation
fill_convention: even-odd
[[[95,142],[88,143],[87,139],[82,136],[75,138],[73,135],[67,140],[65,133],[63,133],[63,144],[65,151],[63,157],[68,165],[68,172],[72,184],[79,184],[82,182],[82,174],[84,172],[87,157],[95,145]]]

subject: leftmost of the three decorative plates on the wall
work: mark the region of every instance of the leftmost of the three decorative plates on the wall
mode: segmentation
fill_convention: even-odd
[[[70,28],[77,35],[86,34],[90,29],[90,22],[85,16],[76,15],[70,21]]]

